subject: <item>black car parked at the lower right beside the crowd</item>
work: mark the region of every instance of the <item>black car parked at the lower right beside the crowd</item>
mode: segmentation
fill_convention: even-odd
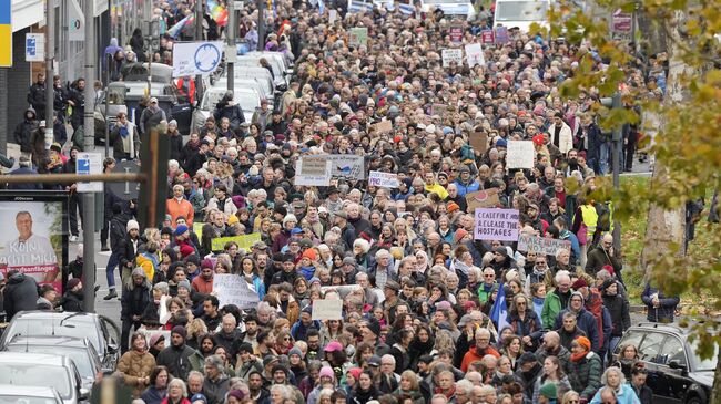
[[[704,404],[711,397],[717,354],[702,360],[688,330],[677,324],[639,323],[631,327],[613,351],[633,344],[643,362],[654,403]]]

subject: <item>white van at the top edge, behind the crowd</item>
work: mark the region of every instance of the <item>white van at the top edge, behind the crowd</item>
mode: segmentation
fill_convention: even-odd
[[[549,28],[549,9],[550,0],[496,0],[494,27],[518,27],[521,32],[528,32],[530,25],[536,22]]]

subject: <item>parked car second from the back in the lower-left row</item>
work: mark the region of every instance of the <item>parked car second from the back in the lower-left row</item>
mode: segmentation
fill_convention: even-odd
[[[70,358],[82,377],[83,387],[91,390],[93,383],[103,372],[114,369],[102,369],[98,351],[88,339],[71,336],[22,336],[13,338],[4,348],[8,352],[49,353]]]

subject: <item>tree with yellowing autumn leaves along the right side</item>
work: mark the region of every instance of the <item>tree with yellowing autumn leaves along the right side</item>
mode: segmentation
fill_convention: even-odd
[[[648,278],[667,294],[701,291],[721,297],[721,260],[715,257],[689,256],[684,248],[684,209],[688,201],[704,197],[707,190],[721,186],[721,1],[691,2],[687,0],[599,0],[597,6],[612,11],[638,11],[646,27],[666,33],[668,46],[668,90],[666,101],[659,102],[644,86],[628,85],[628,74],[636,74],[639,58],[628,45],[611,40],[608,20],[586,15],[571,2],[562,1],[550,11],[551,38],[563,35],[567,42],[588,50],[576,74],[566,80],[561,95],[575,97],[581,90],[611,96],[619,91],[627,105],[639,106],[661,123],[650,151],[656,168],[649,189],[622,187],[612,190],[608,179],[601,179],[593,193],[597,200],[612,198],[617,218],[649,215],[647,246],[642,257]],[[540,28],[539,28],[540,29]],[[648,28],[647,28],[648,30]],[[658,46],[641,39],[641,49]],[[656,32],[651,38],[656,38]],[[662,59],[663,55],[659,55]],[[599,69],[602,68],[602,69]],[[607,130],[627,123],[638,123],[632,110],[596,110]],[[643,211],[643,206],[649,206]],[[715,226],[707,224],[705,226]],[[721,250],[721,231],[710,231],[712,251]],[[721,310],[717,299],[707,310]],[[721,356],[721,319],[684,321],[692,331],[698,353],[705,359]],[[720,358],[721,359],[721,358]],[[721,403],[721,360],[715,370],[711,403]]]

